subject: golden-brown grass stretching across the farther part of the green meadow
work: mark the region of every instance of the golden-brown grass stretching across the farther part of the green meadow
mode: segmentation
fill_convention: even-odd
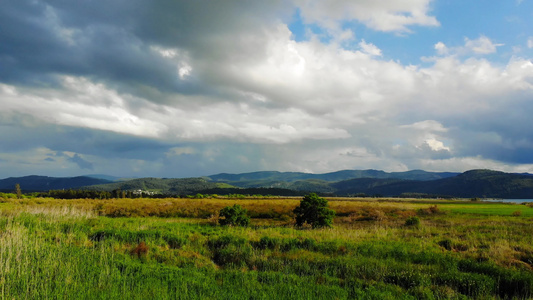
[[[383,199],[329,199],[330,207],[337,212],[333,228],[318,230],[298,230],[293,225],[292,210],[299,205],[300,198],[278,199],[76,199],[57,200],[48,198],[38,199],[5,199],[0,201],[0,211],[4,222],[11,222],[13,216],[20,213],[32,214],[35,218],[56,224],[71,218],[84,220],[93,230],[107,229],[108,224],[116,228],[127,227],[131,231],[157,230],[170,223],[186,223],[191,225],[215,225],[216,213],[225,206],[239,204],[250,213],[255,214],[249,228],[224,228],[202,227],[200,232],[187,232],[183,238],[187,239],[184,248],[170,249],[167,245],[113,242],[113,253],[126,253],[127,255],[143,258],[144,256],[160,259],[161,261],[176,261],[177,265],[194,264],[195,266],[211,266],[213,263],[205,250],[205,245],[210,238],[203,230],[217,231],[219,234],[243,237],[249,241],[259,241],[263,237],[286,239],[311,238],[318,243],[333,242],[339,251],[346,251],[347,244],[372,244],[386,247],[390,244],[406,243],[412,249],[431,249],[435,253],[454,255],[457,257],[472,258],[476,261],[487,259],[506,268],[520,268],[531,270],[530,263],[533,253],[533,229],[531,219],[522,216],[491,216],[486,214],[456,214],[453,210],[482,209],[487,207],[507,207],[500,204],[472,204],[470,202],[421,202],[397,201],[389,202]],[[436,203],[436,204],[435,204]],[[435,206],[436,205],[436,206]],[[477,206],[479,205],[479,206]],[[500,206],[499,206],[500,205]],[[525,205],[509,205],[512,211],[531,209]],[[6,209],[7,208],[7,209]],[[5,211],[10,211],[6,214]],[[521,210],[522,211],[522,210]],[[135,218],[99,218],[98,216],[133,216]],[[174,214],[174,215],[173,215]],[[418,215],[421,219],[419,228],[403,226],[409,216]],[[160,218],[164,216],[165,218]],[[183,216],[183,217],[182,217]],[[270,216],[271,218],[269,218]],[[143,217],[142,219],[138,217]],[[93,220],[90,219],[95,219]],[[274,219],[273,219],[274,218]],[[89,220],[88,220],[89,219]],[[10,221],[11,220],[11,221]],[[97,225],[94,225],[94,224]],[[67,224],[68,225],[68,224]],[[174,224],[175,225],[175,224]],[[191,226],[194,227],[194,226]],[[5,230],[0,231],[0,260],[13,268],[7,255],[17,255],[13,249],[24,247],[35,248],[39,245],[28,242],[28,232],[21,226],[13,227],[7,224]],[[84,238],[70,236],[69,232],[50,234],[50,239],[57,244],[74,244],[92,248],[96,242]],[[182,234],[182,229],[172,229],[173,234]],[[39,234],[38,231],[34,233]],[[32,233],[33,234],[33,233]],[[439,246],[441,242],[449,241],[450,247]],[[48,240],[47,240],[48,242]],[[17,243],[10,246],[10,243]],[[444,243],[442,243],[444,244]],[[385,245],[385,246],[383,246]],[[7,248],[6,248],[7,247]],[[343,248],[344,247],[344,248]],[[376,248],[376,249],[377,249]],[[6,249],[11,249],[7,251]],[[204,249],[204,250],[202,250]],[[342,250],[344,249],[344,250]],[[24,250],[24,251],[26,251]],[[7,252],[6,252],[7,251]],[[28,250],[29,251],[29,250]],[[348,250],[350,251],[350,250]],[[428,250],[429,251],[429,250]],[[267,251],[268,252],[268,251]],[[294,254],[296,253],[296,254]],[[307,253],[299,250],[283,255],[305,254],[310,259],[321,259],[319,253]],[[1,280],[1,279],[0,279]]]

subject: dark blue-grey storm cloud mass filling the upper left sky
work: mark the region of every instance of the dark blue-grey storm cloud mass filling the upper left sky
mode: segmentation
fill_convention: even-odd
[[[59,74],[80,75],[112,80],[119,89],[145,96],[154,95],[146,86],[170,94],[210,90],[194,78],[178,80],[176,66],[154,46],[183,49],[191,63],[198,59],[198,71],[228,56],[249,59],[261,47],[241,48],[252,40],[234,37],[242,31],[259,34],[254,24],[272,12],[271,4],[250,1],[7,0],[0,7],[1,81],[50,84]],[[212,47],[213,39],[227,42]]]

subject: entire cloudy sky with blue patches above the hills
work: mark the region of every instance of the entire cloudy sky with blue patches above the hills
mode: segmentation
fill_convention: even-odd
[[[2,0],[0,178],[533,172],[533,0]]]

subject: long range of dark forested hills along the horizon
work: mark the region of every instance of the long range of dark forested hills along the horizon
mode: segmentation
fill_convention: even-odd
[[[533,198],[531,174],[492,170],[471,170],[464,173],[422,170],[407,172],[342,170],[324,174],[264,171],[177,179],[118,179],[105,175],[66,178],[26,176],[0,180],[0,190],[12,192],[17,183],[25,192],[56,189],[102,191],[121,189],[153,191],[165,195],[196,193],[303,195],[317,192],[337,196]]]

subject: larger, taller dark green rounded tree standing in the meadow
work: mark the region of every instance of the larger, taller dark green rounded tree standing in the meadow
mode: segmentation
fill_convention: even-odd
[[[315,193],[306,195],[293,212],[296,214],[296,226],[307,223],[313,228],[331,227],[335,217],[335,211],[328,208],[328,200]]]

